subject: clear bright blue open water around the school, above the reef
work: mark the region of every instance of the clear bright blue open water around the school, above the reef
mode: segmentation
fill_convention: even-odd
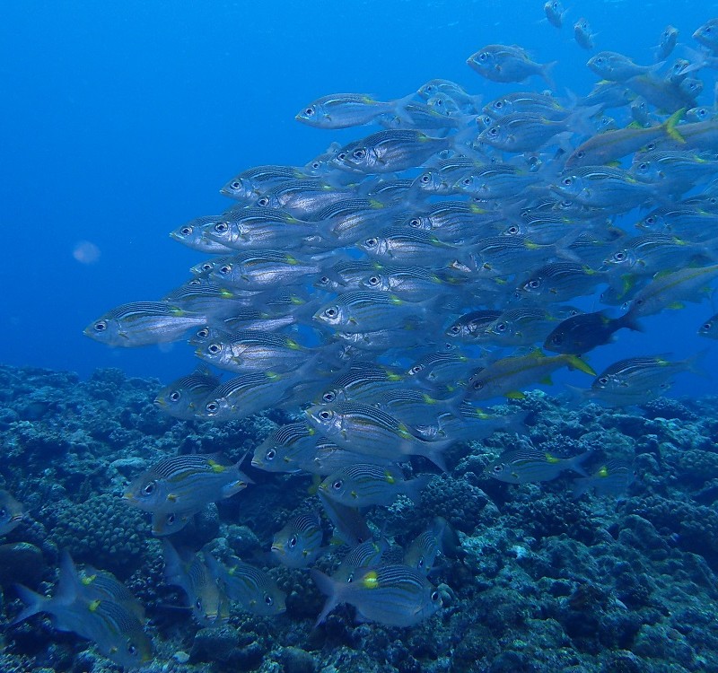
[[[320,95],[391,99],[433,77],[486,100],[519,89],[486,83],[465,65],[489,42],[515,42],[539,61],[558,60],[560,88],[582,94],[596,78],[583,65],[588,53],[573,41],[581,15],[600,48],[648,63],[667,23],[687,39],[718,13],[718,3],[584,0],[566,3],[559,32],[542,22],[542,4],[4,0],[0,359],[83,376],[118,366],[169,380],[191,369],[196,361],[181,343],[108,349],[82,330],[119,303],[159,298],[187,278],[201,255],[168,233],[227,207],[218,189],[236,172],[303,164],[332,140],[363,135],[295,122],[296,111]],[[709,83],[702,101],[713,103]],[[99,250],[97,261],[74,257],[83,241]],[[591,363],[598,369],[631,354],[686,357],[715,346],[695,336],[713,312],[706,300],[647,319],[644,334],[621,332]],[[714,348],[705,370],[716,364]],[[699,395],[714,386],[683,377],[674,390]]]

